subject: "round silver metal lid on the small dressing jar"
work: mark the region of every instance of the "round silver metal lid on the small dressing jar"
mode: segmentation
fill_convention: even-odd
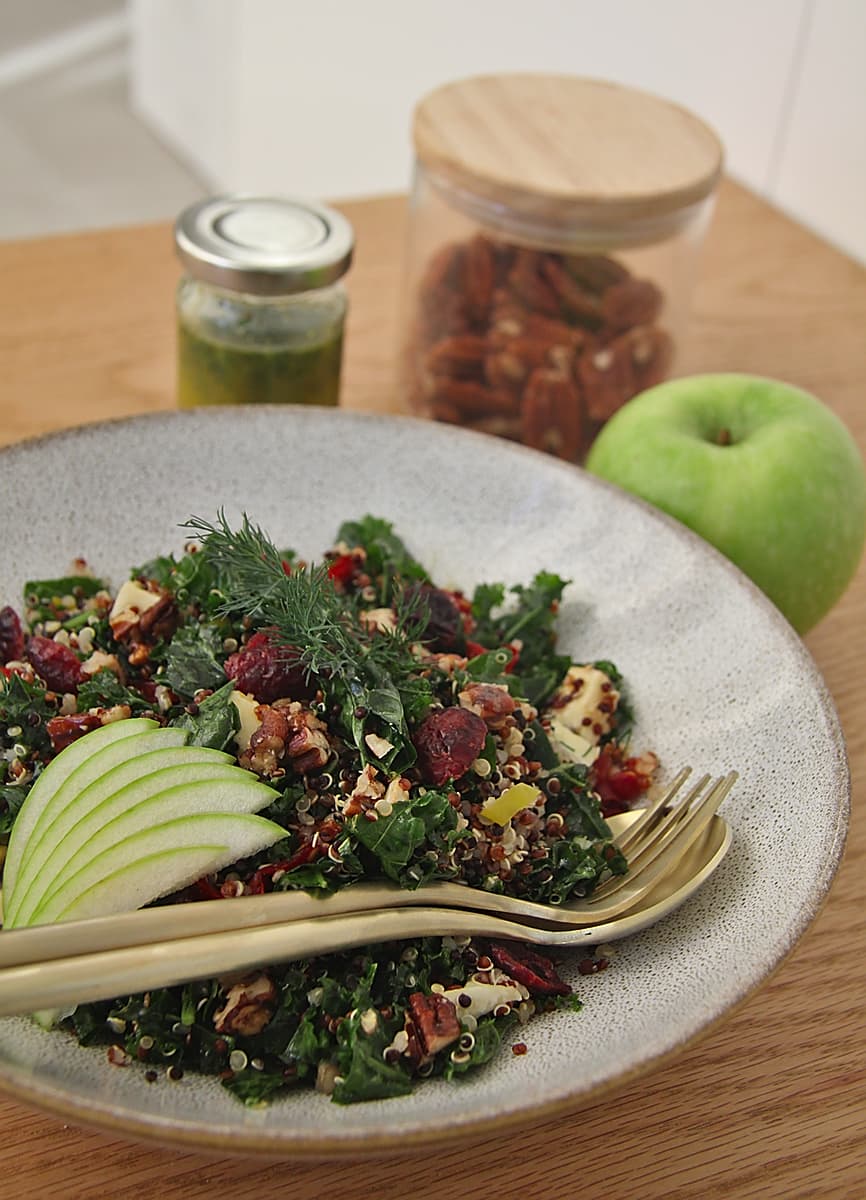
[[[324,288],[351,263],[351,226],[324,204],[281,197],[216,196],[185,209],[178,256],[197,280],[248,295]]]

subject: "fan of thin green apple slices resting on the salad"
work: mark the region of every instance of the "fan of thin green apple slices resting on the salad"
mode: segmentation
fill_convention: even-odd
[[[136,908],[285,836],[253,816],[277,793],[186,736],[116,721],[52,760],[12,828],[6,929]]]

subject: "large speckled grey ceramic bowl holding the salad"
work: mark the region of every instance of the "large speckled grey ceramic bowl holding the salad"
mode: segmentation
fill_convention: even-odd
[[[315,557],[341,521],[392,520],[438,581],[573,581],[565,647],[613,659],[633,744],[673,772],[732,767],[733,847],[679,912],[619,943],[612,968],[565,974],[584,1000],[522,1033],[468,1082],[330,1104],[305,1092],[247,1110],[210,1080],[145,1082],[26,1020],[0,1021],[0,1086],[66,1120],[137,1138],[315,1157],[405,1151],[575,1105],[687,1043],[756,988],[802,934],[842,852],[848,769],[802,643],[733,566],[678,523],[521,446],[411,419],[218,409],[85,427],[0,452],[0,604],[85,556],[115,583],[179,550],[179,522],[246,510]],[[577,956],[576,956],[577,958]]]

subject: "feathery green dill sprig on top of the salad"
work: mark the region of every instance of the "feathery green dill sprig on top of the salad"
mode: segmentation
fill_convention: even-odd
[[[416,709],[417,661],[410,647],[426,625],[422,601],[399,594],[396,629],[374,631],[355,602],[337,593],[326,563],[287,574],[279,551],[246,514],[237,529],[222,510],[216,523],[193,516],[184,528],[197,534],[215,569],[223,594],[219,613],[243,613],[272,631],[275,642],[297,652],[329,700],[343,708],[347,736],[365,761],[371,732],[393,746],[381,760],[386,766],[411,761],[404,701]]]

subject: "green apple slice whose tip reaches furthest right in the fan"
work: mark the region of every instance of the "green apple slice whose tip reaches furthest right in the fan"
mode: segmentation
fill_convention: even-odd
[[[252,814],[199,812],[115,842],[34,913],[31,925],[140,908],[285,836]]]

